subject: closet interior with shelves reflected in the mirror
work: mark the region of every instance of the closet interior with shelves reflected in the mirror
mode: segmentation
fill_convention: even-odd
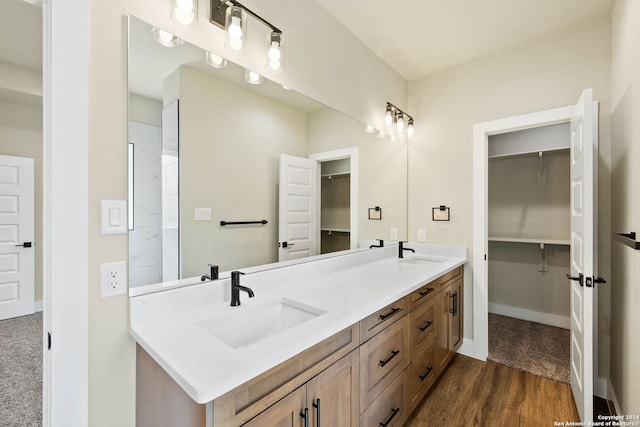
[[[351,245],[351,165],[349,159],[320,164],[320,253]]]

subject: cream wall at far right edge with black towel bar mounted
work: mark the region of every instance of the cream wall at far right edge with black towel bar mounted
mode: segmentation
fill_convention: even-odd
[[[618,0],[612,34],[612,232],[640,233],[640,3]],[[640,413],[640,251],[611,246],[611,383],[618,414]]]

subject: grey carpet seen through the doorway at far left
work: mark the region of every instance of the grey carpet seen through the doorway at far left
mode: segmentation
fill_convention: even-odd
[[[42,313],[0,321],[0,426],[42,425]]]

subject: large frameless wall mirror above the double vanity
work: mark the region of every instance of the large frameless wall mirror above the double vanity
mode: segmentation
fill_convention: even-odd
[[[130,286],[406,238],[405,143],[206,59],[130,18]]]

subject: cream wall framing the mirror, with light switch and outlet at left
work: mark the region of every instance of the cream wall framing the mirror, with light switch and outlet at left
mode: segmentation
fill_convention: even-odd
[[[406,81],[312,0],[247,0],[287,37],[286,69],[273,80],[367,122],[381,123],[386,101],[406,103]],[[170,21],[169,0],[90,0],[89,4],[89,425],[135,423],[135,346],[128,299],[101,299],[99,266],[127,259],[127,236],[100,234],[100,200],[127,197],[127,21],[134,14],[200,47],[222,53],[222,30],[199,2],[195,30]],[[255,26],[259,28],[259,26]],[[258,33],[255,37],[260,39]],[[250,49],[236,62],[264,67]],[[262,49],[262,46],[260,47]],[[366,70],[366,73],[362,71]],[[376,123],[372,123],[376,124]],[[381,126],[380,126],[381,127]],[[108,165],[108,167],[106,166]]]

